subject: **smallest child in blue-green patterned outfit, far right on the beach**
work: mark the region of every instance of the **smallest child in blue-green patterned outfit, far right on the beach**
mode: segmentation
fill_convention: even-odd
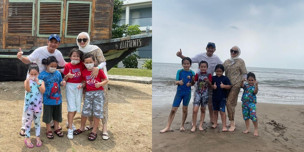
[[[248,84],[244,84],[244,81],[248,81]],[[250,122],[249,119],[252,120],[252,123],[254,125],[254,136],[258,136],[257,134],[257,107],[255,104],[257,103],[257,92],[259,90],[257,86],[257,81],[255,79],[255,75],[252,72],[249,72],[247,74],[247,80],[246,78],[243,78],[241,81],[241,88],[244,89],[241,101],[242,101],[242,112],[243,112],[243,118],[245,120],[246,124],[246,130],[243,131],[243,133],[249,133],[250,132]]]

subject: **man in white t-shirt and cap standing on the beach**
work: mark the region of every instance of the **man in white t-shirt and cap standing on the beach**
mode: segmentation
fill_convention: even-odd
[[[208,63],[208,69],[207,72],[212,74],[214,74],[215,71],[215,66],[217,64],[223,64],[223,62],[219,59],[219,57],[215,54],[213,54],[215,52],[215,43],[209,42],[207,44],[206,47],[206,53],[199,53],[196,54],[194,57],[190,57],[190,59],[192,60],[192,64],[193,63],[199,63],[200,61],[204,60],[207,61]],[[181,49],[179,52],[176,53],[176,56],[180,57],[180,58],[184,58],[185,56],[182,55],[181,53]],[[195,73],[200,72],[199,68],[197,68]],[[195,91],[196,91],[197,85],[195,83],[194,88],[193,88],[193,99],[195,96]],[[209,88],[209,100],[208,100],[208,109],[209,109],[209,117],[210,117],[210,123],[213,123],[213,107],[212,107],[212,88]]]

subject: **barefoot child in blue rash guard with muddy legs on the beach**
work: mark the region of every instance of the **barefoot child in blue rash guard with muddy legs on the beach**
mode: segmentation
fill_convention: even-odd
[[[183,118],[182,118],[180,131],[185,131],[184,124],[187,118],[188,104],[191,98],[191,86],[192,86],[191,81],[195,73],[192,70],[190,70],[192,63],[189,57],[183,58],[181,60],[181,64],[183,66],[183,69],[178,70],[176,74],[175,85],[178,86],[173,101],[172,109],[169,115],[168,123],[166,128],[161,130],[160,133],[165,133],[171,130],[170,129],[171,123],[174,119],[175,113],[179,105],[181,104],[181,101],[183,101]]]

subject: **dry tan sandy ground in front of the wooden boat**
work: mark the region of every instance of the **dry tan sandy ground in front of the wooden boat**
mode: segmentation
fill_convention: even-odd
[[[43,145],[36,147],[35,129],[31,129],[34,148],[29,149],[24,143],[25,137],[19,135],[25,92],[23,82],[0,82],[0,151],[152,151],[152,85],[122,81],[109,81],[108,84],[109,140],[102,139],[102,124],[95,141],[88,140],[89,131],[74,136],[73,140],[67,138],[67,104],[62,87],[63,123],[60,125],[64,137],[54,134],[54,139],[48,139],[45,123],[40,120]],[[80,127],[80,117],[77,113],[74,118],[76,128]]]

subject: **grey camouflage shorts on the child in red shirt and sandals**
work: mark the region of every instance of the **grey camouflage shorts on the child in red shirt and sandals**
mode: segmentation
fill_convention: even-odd
[[[85,92],[85,100],[83,102],[81,116],[92,116],[93,109],[93,116],[98,119],[102,119],[104,99],[105,94],[103,93],[103,90]]]

